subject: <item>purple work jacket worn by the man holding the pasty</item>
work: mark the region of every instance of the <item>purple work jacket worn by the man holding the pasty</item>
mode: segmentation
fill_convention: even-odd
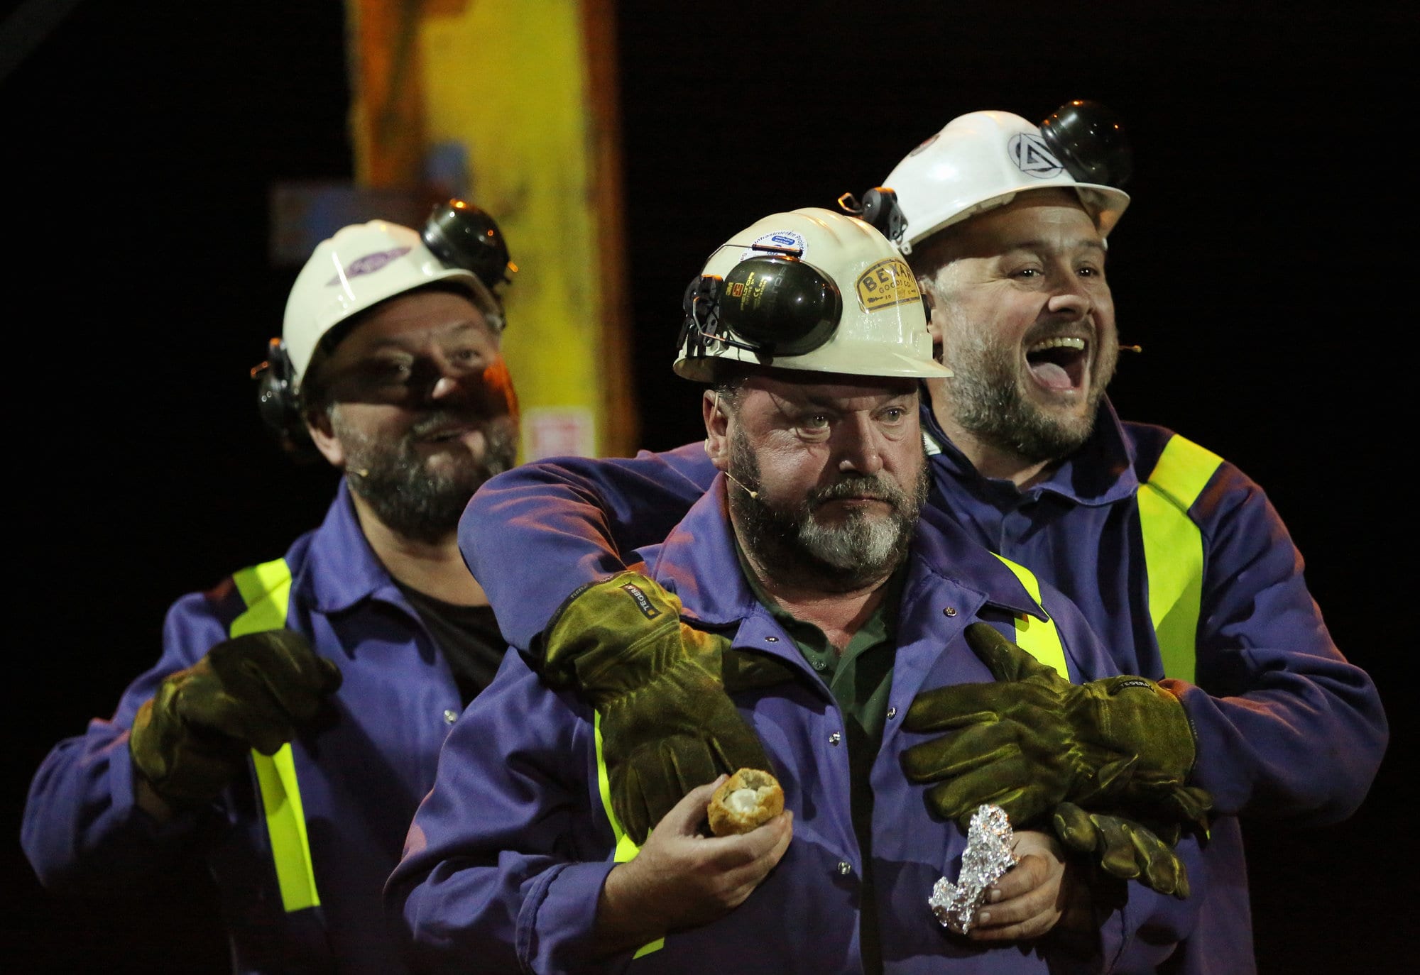
[[[415,817],[405,859],[390,877],[390,917],[408,928],[410,966],[426,972],[861,972],[862,859],[849,800],[843,715],[822,678],[748,589],[717,483],[660,546],[642,552],[649,573],[676,592],[684,619],[734,633],[734,646],[780,659],[791,683],[734,695],[764,742],[794,812],[794,839],[768,878],[728,915],[665,938],[662,947],[602,964],[588,957],[596,901],[613,867],[615,834],[598,788],[594,714],[574,694],[545,685],[517,654],[454,725],[435,789]],[[534,563],[532,571],[551,569]],[[1042,585],[1074,680],[1115,671],[1079,612]],[[1012,616],[1042,609],[1000,559],[926,512],[909,555],[875,795],[875,893],[886,972],[1065,971],[1048,948],[985,948],[946,932],[927,897],[956,877],[966,839],[927,812],[924,786],[903,776],[907,747],[930,735],[902,729],[923,688],[990,681],[963,629],[985,620],[1014,633]],[[490,747],[491,745],[491,747]],[[1191,840],[1184,856],[1194,857]],[[1186,937],[1196,901],[1120,884],[1126,901],[1103,921],[1110,969],[1126,947],[1154,959]],[[1147,944],[1145,944],[1147,942]],[[1062,968],[1064,966],[1064,968]]]

